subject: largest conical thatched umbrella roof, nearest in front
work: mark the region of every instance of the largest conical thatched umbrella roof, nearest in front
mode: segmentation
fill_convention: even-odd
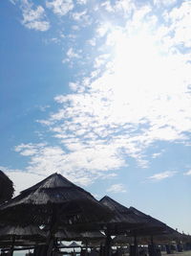
[[[3,221],[19,224],[70,225],[100,221],[110,214],[90,193],[58,174],[50,175],[0,207]]]

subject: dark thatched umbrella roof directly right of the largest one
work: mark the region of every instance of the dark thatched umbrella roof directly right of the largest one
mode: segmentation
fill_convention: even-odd
[[[107,206],[114,214],[114,217],[106,223],[112,234],[120,234],[131,228],[136,228],[144,224],[141,217],[138,217],[130,209],[121,205],[116,200],[105,196],[100,202]]]

